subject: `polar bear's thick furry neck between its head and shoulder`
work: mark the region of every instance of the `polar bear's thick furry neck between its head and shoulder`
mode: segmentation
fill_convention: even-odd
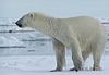
[[[53,37],[56,35],[56,30],[58,32],[58,23],[59,21],[53,17],[47,17],[43,25],[40,25],[39,32]]]

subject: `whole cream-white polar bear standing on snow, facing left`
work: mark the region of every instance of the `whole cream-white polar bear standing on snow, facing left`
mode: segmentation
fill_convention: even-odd
[[[25,14],[15,23],[19,27],[32,27],[52,38],[57,67],[62,71],[65,63],[65,47],[71,49],[74,67],[84,70],[85,60],[92,53],[93,70],[100,70],[100,60],[105,51],[106,34],[98,20],[89,16],[56,18],[40,13]]]

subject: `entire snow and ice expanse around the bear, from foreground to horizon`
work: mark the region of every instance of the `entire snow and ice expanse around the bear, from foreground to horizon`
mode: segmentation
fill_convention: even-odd
[[[105,22],[105,21],[102,21]],[[20,30],[33,30],[31,28],[21,29],[12,25],[12,20],[0,21],[0,47],[26,46],[26,48],[0,49],[0,75],[108,75],[109,74],[109,42],[106,46],[106,54],[101,60],[102,71],[92,71],[92,57],[85,62],[85,71],[69,71],[73,67],[71,54],[66,55],[66,66],[62,72],[50,72],[56,66],[56,58],[51,41],[26,41],[37,39],[49,39],[36,32],[16,33]],[[3,26],[4,25],[4,26]],[[12,26],[7,26],[12,25]],[[106,32],[109,33],[109,25]],[[11,30],[2,33],[2,30]],[[26,37],[26,38],[25,38]],[[45,50],[46,49],[46,50]],[[26,51],[27,50],[27,51]],[[33,51],[35,50],[35,51]],[[29,52],[29,55],[28,55]],[[36,54],[36,55],[35,55]]]

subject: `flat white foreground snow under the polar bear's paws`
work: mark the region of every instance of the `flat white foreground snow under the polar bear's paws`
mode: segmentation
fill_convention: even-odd
[[[66,55],[66,66],[62,72],[50,72],[56,66],[55,55],[10,55],[0,57],[0,75],[108,75],[109,55],[104,55],[102,71],[92,71],[92,57],[85,62],[85,71],[69,71],[73,67],[70,55]]]

